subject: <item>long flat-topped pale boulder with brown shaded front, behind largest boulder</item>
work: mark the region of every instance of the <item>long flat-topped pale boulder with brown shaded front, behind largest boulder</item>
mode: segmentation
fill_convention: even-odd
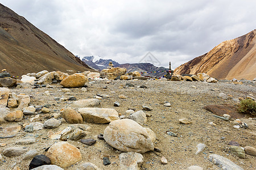
[[[118,112],[108,108],[81,108],[78,111],[84,121],[94,124],[108,124],[119,120]]]

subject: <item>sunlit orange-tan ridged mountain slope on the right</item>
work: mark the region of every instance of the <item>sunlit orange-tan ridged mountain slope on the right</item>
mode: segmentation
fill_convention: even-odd
[[[256,78],[256,29],[224,41],[203,56],[177,67],[176,74],[207,73],[218,79]]]

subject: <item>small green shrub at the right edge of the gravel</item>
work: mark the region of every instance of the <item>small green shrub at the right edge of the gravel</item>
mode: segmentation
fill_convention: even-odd
[[[250,113],[251,115],[256,115],[256,102],[251,99],[241,100],[238,104],[238,112],[240,113]]]

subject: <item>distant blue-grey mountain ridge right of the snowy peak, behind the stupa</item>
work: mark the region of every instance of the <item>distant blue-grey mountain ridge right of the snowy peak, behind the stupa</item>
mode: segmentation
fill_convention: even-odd
[[[125,63],[122,65],[119,65],[119,67],[126,68],[127,73],[138,71],[140,73],[146,73],[149,71],[156,71],[156,73],[146,73],[142,74],[143,76],[151,76],[151,77],[162,77],[166,75],[166,70],[168,70],[165,67],[156,67],[152,65],[151,63]],[[160,71],[160,72],[158,72]]]

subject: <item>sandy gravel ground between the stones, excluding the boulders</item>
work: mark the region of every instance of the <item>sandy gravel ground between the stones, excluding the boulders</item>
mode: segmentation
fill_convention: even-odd
[[[123,88],[126,83],[134,84],[134,88]],[[256,121],[249,119],[249,116],[242,118],[241,121],[249,125],[248,129],[233,128],[231,121],[224,121],[216,118],[212,113],[203,109],[204,106],[210,104],[236,104],[238,97],[254,96],[256,97],[256,83],[243,82],[243,84],[232,84],[229,81],[222,80],[218,83],[204,82],[172,82],[164,80],[90,80],[86,83],[88,91],[82,92],[81,88],[71,88],[70,93],[64,93],[58,83],[51,84],[52,88],[32,88],[30,84],[22,84],[22,88],[10,88],[11,92],[16,94],[26,94],[31,97],[31,105],[35,107],[51,104],[50,116],[55,113],[60,113],[60,110],[65,107],[70,107],[73,101],[60,101],[55,97],[68,98],[74,96],[77,100],[91,99],[96,94],[105,94],[109,97],[101,99],[102,108],[114,108],[119,114],[129,116],[125,111],[129,108],[142,110],[142,105],[147,105],[152,108],[152,111],[144,111],[148,114],[147,123],[144,127],[151,128],[157,137],[155,147],[161,152],[151,151],[143,155],[144,162],[142,169],[187,169],[191,165],[198,165],[204,169],[219,169],[208,160],[210,154],[218,154],[228,158],[243,169],[256,169],[256,159],[254,156],[246,155],[246,159],[240,159],[237,156],[230,154],[228,142],[236,141],[242,147],[256,147]],[[147,88],[139,88],[146,86]],[[106,87],[106,88],[103,88]],[[49,91],[49,96],[45,94]],[[218,97],[220,92],[228,95],[228,99],[224,100]],[[127,99],[119,99],[118,95],[125,95]],[[120,107],[114,107],[114,102],[118,101]],[[164,103],[169,102],[171,107],[164,107]],[[78,108],[74,108],[78,109]],[[44,122],[47,117],[40,114],[39,122]],[[35,115],[34,115],[35,116]],[[1,128],[6,128],[13,125],[23,125],[28,123],[30,118],[34,116],[24,116],[20,122],[9,122],[1,124]],[[192,124],[180,124],[179,118],[184,117],[192,121]],[[211,125],[213,122],[216,125]],[[108,124],[90,124],[91,129],[85,138],[97,139],[97,135],[104,132]],[[7,143],[1,147],[2,152],[5,148],[16,146],[15,141],[25,137],[36,137],[36,143],[24,146],[31,149],[36,149],[40,154],[45,154],[45,148],[51,146],[59,140],[49,139],[49,134],[62,130],[70,124],[63,123],[55,129],[43,129],[34,133],[26,133],[21,130],[16,137],[9,139],[1,139],[0,143]],[[166,131],[172,131],[177,134],[177,137],[168,135]],[[72,145],[79,147],[82,154],[81,162],[91,162],[96,164],[101,169],[118,169],[118,156],[120,151],[109,146],[104,140],[97,139],[97,142],[89,147],[85,147],[78,141],[70,141]],[[197,150],[196,145],[204,143],[207,147],[198,155],[195,155]],[[2,155],[3,156],[3,155]],[[28,169],[31,162],[23,160],[23,155],[14,156],[5,159],[4,163],[0,164],[0,169],[12,169],[18,165],[20,169]],[[112,164],[103,165],[103,157],[108,156]],[[160,159],[164,156],[168,163],[163,165]],[[75,169],[69,167],[66,169]]]

